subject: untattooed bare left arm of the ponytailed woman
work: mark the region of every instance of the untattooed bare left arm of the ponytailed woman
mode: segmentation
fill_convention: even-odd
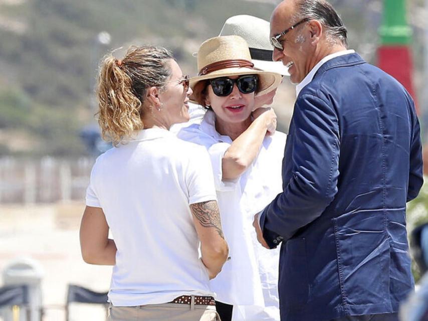
[[[116,264],[116,244],[108,238],[108,231],[103,210],[87,206],[80,224],[80,248],[86,263]]]

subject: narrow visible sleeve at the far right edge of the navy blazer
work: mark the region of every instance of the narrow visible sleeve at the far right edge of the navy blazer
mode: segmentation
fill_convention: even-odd
[[[422,143],[420,140],[419,120],[417,119],[413,100],[409,97],[411,116],[411,141],[409,154],[409,177],[407,189],[407,202],[416,198],[423,185]]]

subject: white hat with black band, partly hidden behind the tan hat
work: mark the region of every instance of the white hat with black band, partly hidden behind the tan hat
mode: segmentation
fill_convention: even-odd
[[[250,47],[255,68],[290,76],[282,62],[272,61],[273,48],[269,42],[269,33],[268,21],[250,15],[238,15],[226,20],[219,36],[241,36]]]

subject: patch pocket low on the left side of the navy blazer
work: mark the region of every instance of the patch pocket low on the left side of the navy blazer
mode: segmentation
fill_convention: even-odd
[[[281,262],[281,299],[289,310],[302,307],[309,297],[306,242],[304,238],[290,239],[285,244],[285,260]]]

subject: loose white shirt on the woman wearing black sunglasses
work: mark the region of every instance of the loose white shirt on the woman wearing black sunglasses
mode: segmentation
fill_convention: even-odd
[[[286,135],[266,136],[257,158],[237,180],[223,181],[222,159],[232,144],[215,128],[208,110],[200,125],[179,131],[178,137],[203,145],[211,156],[223,231],[231,257],[210,281],[217,300],[233,304],[233,320],[279,320],[279,249],[267,250],[257,241],[254,215],[282,192],[282,158]]]

